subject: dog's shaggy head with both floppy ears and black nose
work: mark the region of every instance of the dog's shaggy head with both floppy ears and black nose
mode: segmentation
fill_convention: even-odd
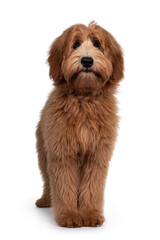
[[[113,36],[96,25],[71,26],[51,45],[50,77],[79,92],[94,91],[123,78],[123,54]]]

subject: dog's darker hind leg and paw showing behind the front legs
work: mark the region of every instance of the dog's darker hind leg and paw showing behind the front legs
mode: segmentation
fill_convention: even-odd
[[[40,123],[37,127],[36,137],[37,137],[38,163],[39,168],[41,170],[44,185],[42,197],[38,199],[35,204],[37,207],[51,207],[49,176],[47,172],[47,156],[44,149],[44,142],[40,129]]]

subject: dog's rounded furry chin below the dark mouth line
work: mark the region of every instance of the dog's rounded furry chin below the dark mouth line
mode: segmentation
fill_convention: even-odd
[[[92,92],[101,88],[103,78],[96,72],[85,70],[73,74],[70,84],[79,92]]]

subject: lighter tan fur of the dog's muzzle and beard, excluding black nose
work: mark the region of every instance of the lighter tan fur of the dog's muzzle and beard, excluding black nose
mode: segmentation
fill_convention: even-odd
[[[93,48],[93,42],[88,36],[84,38],[81,46],[75,51],[70,50],[69,57],[62,62],[64,78],[73,88],[82,92],[100,89],[112,72],[111,62],[104,53],[98,48]],[[94,60],[89,72],[85,72],[81,64],[84,56],[89,56]]]

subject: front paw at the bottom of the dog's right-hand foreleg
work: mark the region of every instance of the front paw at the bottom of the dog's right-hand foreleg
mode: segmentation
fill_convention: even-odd
[[[97,210],[83,211],[80,215],[82,217],[83,226],[85,227],[101,226],[105,221],[104,216]]]

